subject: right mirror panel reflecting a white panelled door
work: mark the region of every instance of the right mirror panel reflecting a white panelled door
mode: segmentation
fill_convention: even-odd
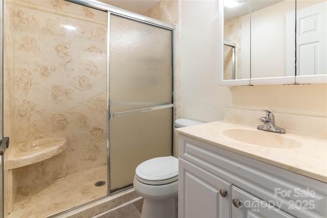
[[[327,74],[327,1],[297,1],[296,75]]]

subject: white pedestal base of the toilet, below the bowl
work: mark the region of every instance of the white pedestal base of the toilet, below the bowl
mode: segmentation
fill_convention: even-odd
[[[164,200],[144,199],[141,218],[176,218],[177,197]]]

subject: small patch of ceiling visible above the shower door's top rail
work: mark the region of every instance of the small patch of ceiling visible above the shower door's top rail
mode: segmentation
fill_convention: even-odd
[[[97,0],[105,4],[132,11],[138,14],[144,14],[150,8],[155,6],[159,0]]]

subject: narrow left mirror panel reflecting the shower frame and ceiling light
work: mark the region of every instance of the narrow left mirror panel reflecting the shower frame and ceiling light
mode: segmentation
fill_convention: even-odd
[[[250,78],[249,2],[224,0],[224,80]]]

